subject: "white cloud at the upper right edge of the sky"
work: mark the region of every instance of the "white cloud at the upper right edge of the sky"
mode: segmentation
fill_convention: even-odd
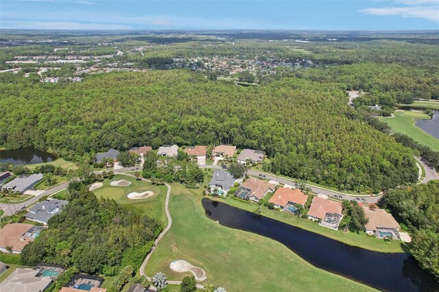
[[[394,16],[417,17],[427,19],[429,21],[439,22],[439,8],[427,6],[410,6],[410,7],[385,7],[385,8],[368,8],[362,10],[366,14],[378,16]]]

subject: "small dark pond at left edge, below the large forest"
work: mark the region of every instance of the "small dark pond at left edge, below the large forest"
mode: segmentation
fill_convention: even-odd
[[[55,159],[56,156],[54,156],[54,154],[32,147],[16,150],[0,150],[0,163],[12,162],[14,165],[33,165],[35,163],[51,162]]]

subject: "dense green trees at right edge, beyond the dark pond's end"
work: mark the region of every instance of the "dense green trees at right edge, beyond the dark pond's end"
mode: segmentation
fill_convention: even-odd
[[[439,279],[439,181],[396,188],[381,202],[412,234],[410,253]]]

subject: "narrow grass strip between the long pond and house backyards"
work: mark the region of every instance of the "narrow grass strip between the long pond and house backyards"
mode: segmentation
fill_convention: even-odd
[[[229,204],[230,206],[248,210],[250,212],[253,212],[259,206],[258,204],[253,202],[250,204],[246,204],[244,202],[237,201],[236,199],[232,199],[232,197],[228,197],[227,199],[209,197],[209,199],[215,199],[219,202],[223,202]],[[291,224],[292,226],[297,226],[298,228],[302,228],[311,232],[315,232],[327,236],[331,239],[335,239],[336,241],[341,241],[342,243],[346,243],[348,245],[361,247],[366,250],[374,250],[376,252],[403,252],[402,241],[385,242],[383,241],[383,239],[377,239],[372,236],[367,236],[366,232],[344,233],[342,230],[332,230],[329,228],[324,228],[323,226],[318,225],[317,222],[311,221],[309,219],[299,218],[295,215],[292,215],[289,212],[279,212],[278,210],[270,210],[265,206],[262,206],[262,209],[263,209],[262,215],[265,217],[270,217],[272,219],[276,219],[278,221]]]

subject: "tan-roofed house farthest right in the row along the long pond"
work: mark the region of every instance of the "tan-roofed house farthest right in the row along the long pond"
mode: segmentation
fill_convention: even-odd
[[[377,238],[392,236],[393,239],[399,239],[398,232],[401,227],[392,214],[376,207],[369,208],[368,206],[363,206],[363,210],[364,215],[369,219],[368,223],[364,226],[367,234],[375,235]]]

